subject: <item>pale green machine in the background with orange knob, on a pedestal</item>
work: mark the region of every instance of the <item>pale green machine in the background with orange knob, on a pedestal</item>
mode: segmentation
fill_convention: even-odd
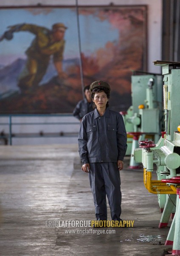
[[[158,142],[164,129],[163,79],[162,75],[138,75],[135,71],[131,81],[132,106],[121,114],[127,130],[126,155],[131,155],[129,168],[138,169],[133,157],[134,149],[139,147],[138,140],[150,137]]]

